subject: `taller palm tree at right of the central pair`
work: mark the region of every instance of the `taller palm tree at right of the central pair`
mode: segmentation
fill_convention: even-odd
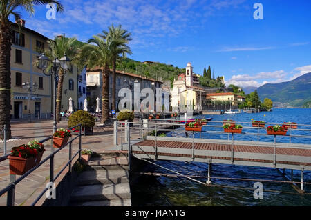
[[[111,47],[112,54],[112,67],[113,67],[113,83],[112,83],[112,109],[115,110],[115,70],[117,68],[117,60],[120,59],[120,54],[122,57],[125,57],[126,54],[131,54],[131,48],[127,46],[127,43],[131,41],[131,33],[127,30],[122,29],[122,26],[119,25],[115,28],[113,24],[111,27],[108,27],[109,32],[106,30],[102,31],[102,34],[99,34],[103,39],[114,41],[113,47]]]

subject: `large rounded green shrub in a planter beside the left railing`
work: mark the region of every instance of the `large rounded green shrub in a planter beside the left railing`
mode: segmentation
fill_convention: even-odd
[[[84,127],[92,128],[95,126],[95,119],[90,113],[79,110],[70,115],[68,120],[68,127],[71,128],[73,126],[79,125],[80,123]]]

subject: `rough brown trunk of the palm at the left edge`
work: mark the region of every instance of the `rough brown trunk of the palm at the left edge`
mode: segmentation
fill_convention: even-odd
[[[0,30],[0,139],[4,138],[3,128],[6,125],[6,138],[11,139],[11,30],[7,23],[1,23]]]

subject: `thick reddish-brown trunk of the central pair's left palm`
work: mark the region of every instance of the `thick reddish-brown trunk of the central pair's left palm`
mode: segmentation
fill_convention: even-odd
[[[102,123],[109,119],[109,66],[102,72]]]

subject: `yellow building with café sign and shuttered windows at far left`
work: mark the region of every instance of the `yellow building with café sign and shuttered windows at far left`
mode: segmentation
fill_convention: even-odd
[[[41,55],[39,52],[48,49],[46,43],[48,38],[24,26],[19,31],[16,23],[12,23],[12,31],[11,118],[27,119],[29,108],[32,118],[49,118],[52,109],[51,79],[33,65]],[[30,106],[28,106],[28,92],[22,88],[22,84],[26,82],[38,85],[37,90],[30,95]]]

